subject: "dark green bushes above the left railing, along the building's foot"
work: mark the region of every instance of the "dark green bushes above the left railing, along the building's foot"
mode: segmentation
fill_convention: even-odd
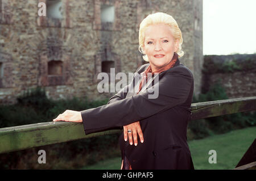
[[[65,110],[87,110],[108,102],[108,99],[90,102],[86,97],[52,100],[40,87],[24,92],[17,100],[15,105],[0,106],[0,128],[48,122]]]

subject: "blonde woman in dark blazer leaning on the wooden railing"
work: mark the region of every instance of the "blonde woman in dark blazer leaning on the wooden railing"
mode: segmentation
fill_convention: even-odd
[[[180,64],[182,42],[172,16],[163,12],[148,15],[140,24],[139,51],[149,64],[140,66],[131,84],[108,104],[81,112],[67,110],[53,121],[82,122],[85,134],[123,127],[121,169],[193,169],[187,144],[193,74]],[[151,74],[158,81],[148,79]],[[139,84],[138,75],[144,75]],[[138,92],[130,91],[138,85]],[[154,91],[157,96],[150,98]]]

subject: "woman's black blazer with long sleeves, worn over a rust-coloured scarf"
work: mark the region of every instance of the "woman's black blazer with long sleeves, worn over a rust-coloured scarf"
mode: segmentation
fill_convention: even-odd
[[[150,64],[137,69],[142,73]],[[193,74],[177,59],[174,67],[158,74],[159,81],[152,81],[141,92],[129,91],[139,85],[134,74],[130,85],[109,99],[108,104],[81,111],[85,134],[140,121],[144,142],[129,145],[119,137],[122,155],[132,169],[193,169],[191,153],[187,144],[187,124],[191,119]],[[148,99],[158,86],[156,99]],[[143,91],[144,89],[144,91]],[[145,90],[146,89],[146,90]]]

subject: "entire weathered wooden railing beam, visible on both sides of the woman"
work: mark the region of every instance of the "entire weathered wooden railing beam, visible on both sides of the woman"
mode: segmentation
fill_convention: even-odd
[[[255,104],[256,96],[193,103],[191,105],[192,120],[230,113],[254,111],[256,110]],[[93,133],[86,136],[82,123],[60,121],[0,128],[0,153],[118,132],[120,132],[120,130],[111,130]]]

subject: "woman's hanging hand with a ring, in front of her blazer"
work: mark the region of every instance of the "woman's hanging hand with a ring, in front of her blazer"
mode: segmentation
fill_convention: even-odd
[[[124,135],[125,141],[127,141],[127,133],[129,136],[130,145],[133,145],[133,141],[135,146],[138,145],[137,133],[139,134],[139,139],[141,140],[141,142],[144,141],[143,133],[141,131],[141,125],[139,124],[139,121],[123,126],[123,135]]]

